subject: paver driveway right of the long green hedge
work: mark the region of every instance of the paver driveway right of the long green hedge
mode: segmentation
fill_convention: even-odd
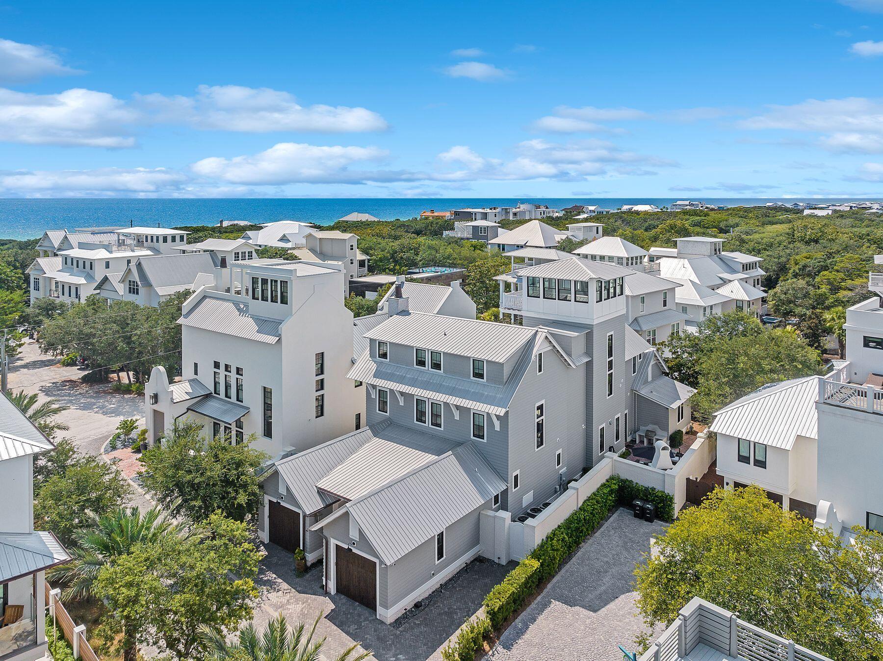
[[[491,650],[492,661],[619,661],[643,622],[635,607],[632,571],[660,522],[620,509],[583,545]]]

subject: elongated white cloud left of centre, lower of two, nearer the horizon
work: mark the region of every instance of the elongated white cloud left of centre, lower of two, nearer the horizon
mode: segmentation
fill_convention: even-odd
[[[377,147],[313,146],[280,142],[259,154],[227,159],[210,157],[192,164],[202,177],[230,184],[357,184],[394,177],[389,173],[351,170],[353,163],[382,161],[388,153]]]

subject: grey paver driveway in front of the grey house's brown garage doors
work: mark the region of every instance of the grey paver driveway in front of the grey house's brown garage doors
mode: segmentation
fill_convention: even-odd
[[[347,597],[322,594],[321,563],[298,577],[291,553],[273,544],[268,544],[266,550],[268,555],[261,562],[258,578],[261,597],[254,609],[255,627],[260,630],[280,612],[290,624],[312,625],[324,612],[317,630],[328,636],[323,649],[326,658],[336,657],[358,641],[365,649],[373,650],[378,661],[441,659],[437,652],[442,644],[479,610],[487,592],[515,566],[473,561],[424,599],[419,612],[408,612],[387,625],[377,619],[374,611]]]

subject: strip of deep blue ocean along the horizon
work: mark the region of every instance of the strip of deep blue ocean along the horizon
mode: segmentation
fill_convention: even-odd
[[[681,198],[683,199],[683,198]],[[282,220],[329,225],[354,211],[372,214],[383,221],[411,218],[427,209],[462,207],[514,207],[520,202],[547,204],[562,208],[574,204],[599,205],[616,209],[624,204],[654,204],[665,207],[675,198],[285,198],[285,199],[0,199],[0,238],[35,238],[47,229],[94,227],[178,227],[216,225],[225,221],[271,222]],[[795,199],[702,198],[713,205],[764,205],[767,202],[794,202]],[[814,204],[850,201],[807,199]],[[851,200],[855,201],[855,200]]]

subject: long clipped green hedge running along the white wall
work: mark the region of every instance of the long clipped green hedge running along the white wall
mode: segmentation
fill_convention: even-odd
[[[577,550],[615,507],[630,505],[636,498],[652,502],[660,519],[671,521],[675,517],[675,500],[670,494],[623,477],[608,477],[487,593],[483,602],[487,617],[466,622],[457,640],[442,650],[445,661],[472,661],[492,628],[501,627],[541,582],[554,576],[564,559]]]

